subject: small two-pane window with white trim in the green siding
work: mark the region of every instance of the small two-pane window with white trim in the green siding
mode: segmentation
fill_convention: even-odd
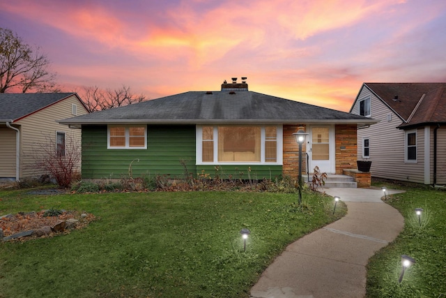
[[[108,126],[107,149],[147,149],[147,126]]]

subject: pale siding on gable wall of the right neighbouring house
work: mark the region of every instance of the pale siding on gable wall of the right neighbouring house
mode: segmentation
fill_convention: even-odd
[[[401,118],[392,112],[369,89],[362,88],[358,98],[371,96],[371,118],[377,124],[357,130],[357,156],[362,157],[362,138],[369,137],[371,176],[385,179],[397,179],[424,183],[424,128],[417,130],[417,163],[404,161],[404,131],[397,128]],[[352,113],[358,114],[358,100],[353,105]],[[391,121],[387,121],[391,114]]]

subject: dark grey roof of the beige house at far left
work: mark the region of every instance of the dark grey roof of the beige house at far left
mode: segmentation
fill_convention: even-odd
[[[0,94],[0,119],[2,119],[0,121],[19,121],[72,95],[75,95],[79,102],[84,105],[75,93],[2,93]]]

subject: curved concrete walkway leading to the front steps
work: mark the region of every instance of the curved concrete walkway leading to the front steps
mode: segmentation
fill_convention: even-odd
[[[401,232],[404,219],[376,188],[324,188],[348,213],[290,244],[251,289],[252,298],[364,297],[366,265]],[[402,191],[388,190],[387,195]]]

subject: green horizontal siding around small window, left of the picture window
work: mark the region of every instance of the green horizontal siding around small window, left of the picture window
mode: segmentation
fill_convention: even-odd
[[[139,161],[138,161],[139,159]],[[184,177],[196,172],[195,126],[148,126],[147,149],[107,149],[107,126],[82,127],[82,177],[119,179],[151,174]]]

